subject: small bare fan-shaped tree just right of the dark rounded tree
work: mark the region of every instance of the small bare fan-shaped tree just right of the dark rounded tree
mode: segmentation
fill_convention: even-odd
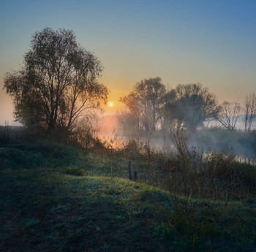
[[[236,123],[238,118],[241,116],[241,105],[237,102],[223,102],[221,107],[221,112],[217,121],[222,123],[226,129],[234,130],[236,129]]]

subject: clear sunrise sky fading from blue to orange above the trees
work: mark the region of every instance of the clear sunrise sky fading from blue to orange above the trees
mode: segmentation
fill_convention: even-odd
[[[256,1],[0,1],[0,124],[12,121],[2,90],[18,70],[31,35],[69,28],[105,67],[100,81],[118,99],[148,77],[203,83],[219,102],[256,93]]]

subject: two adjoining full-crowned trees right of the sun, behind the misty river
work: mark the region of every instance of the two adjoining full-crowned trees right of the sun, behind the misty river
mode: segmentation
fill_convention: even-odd
[[[160,127],[195,131],[203,121],[217,118],[221,109],[216,96],[201,83],[180,84],[167,91],[159,77],[136,83],[133,91],[120,101],[126,108],[119,116],[121,125],[146,131]]]

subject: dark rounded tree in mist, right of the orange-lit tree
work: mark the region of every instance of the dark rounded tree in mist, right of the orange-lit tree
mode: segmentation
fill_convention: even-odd
[[[195,131],[208,118],[217,118],[217,98],[201,83],[180,84],[171,92],[170,101],[165,102],[165,116],[176,126]]]

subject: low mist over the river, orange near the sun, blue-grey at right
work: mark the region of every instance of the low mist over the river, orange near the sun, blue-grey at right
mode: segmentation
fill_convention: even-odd
[[[253,147],[250,143],[247,144],[246,140],[243,140],[243,118],[238,119],[236,129],[238,131],[223,129],[223,126],[218,121],[205,122],[204,129],[197,129],[196,134],[189,135],[189,149],[195,146],[198,150],[204,150],[205,152],[211,149],[214,152],[233,153],[237,159],[255,162],[255,146]],[[252,130],[255,129],[256,122],[254,121]],[[170,131],[156,131],[148,134],[135,131],[127,133],[120,129],[115,115],[105,116],[99,121],[98,136],[103,140],[110,141],[113,147],[116,148],[124,146],[132,138],[142,142],[143,145],[149,145],[155,151],[163,151],[165,153],[176,151],[170,140]]]

